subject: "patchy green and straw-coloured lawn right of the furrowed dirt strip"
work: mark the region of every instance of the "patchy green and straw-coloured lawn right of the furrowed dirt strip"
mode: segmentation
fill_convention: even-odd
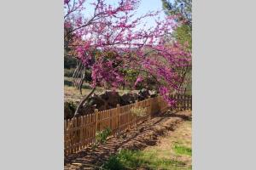
[[[160,138],[145,150],[121,150],[103,164],[105,169],[191,170],[191,121]]]

